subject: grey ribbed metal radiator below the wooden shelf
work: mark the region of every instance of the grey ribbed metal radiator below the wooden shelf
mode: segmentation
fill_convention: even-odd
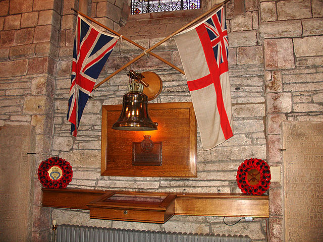
[[[249,237],[58,225],[57,242],[250,242]]]

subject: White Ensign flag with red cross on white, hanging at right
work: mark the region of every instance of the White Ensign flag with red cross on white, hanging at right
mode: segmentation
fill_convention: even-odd
[[[224,9],[174,36],[194,106],[202,147],[233,136]]]

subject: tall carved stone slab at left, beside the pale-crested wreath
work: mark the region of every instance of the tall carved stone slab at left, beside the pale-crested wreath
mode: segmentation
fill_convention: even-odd
[[[32,126],[0,127],[0,241],[31,241],[34,148]]]

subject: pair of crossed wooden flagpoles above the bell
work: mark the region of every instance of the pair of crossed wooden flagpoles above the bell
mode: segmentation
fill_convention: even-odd
[[[160,57],[159,55],[151,52],[151,50],[153,50],[154,48],[158,47],[159,45],[163,44],[164,42],[166,42],[167,40],[169,40],[170,38],[174,37],[176,34],[182,32],[184,29],[188,28],[189,26],[195,24],[197,21],[201,20],[202,18],[204,18],[205,16],[207,16],[208,14],[212,13],[213,11],[216,11],[217,9],[221,8],[223,5],[225,5],[226,3],[228,3],[230,0],[225,0],[224,2],[222,2],[221,4],[216,5],[215,7],[213,7],[212,9],[210,9],[209,11],[205,12],[204,14],[202,14],[201,16],[197,17],[196,19],[194,19],[193,21],[191,21],[190,23],[186,24],[185,26],[183,26],[182,28],[180,28],[179,30],[175,31],[174,33],[170,34],[169,36],[167,36],[166,38],[164,38],[163,40],[160,40],[158,43],[154,44],[152,47],[150,47],[149,49],[146,49],[145,47],[141,46],[140,44],[137,44],[136,42],[128,39],[127,37],[119,34],[118,32],[110,29],[109,27],[106,27],[105,25],[97,22],[96,20],[88,17],[87,15],[76,11],[75,9],[72,8],[73,11],[75,11],[76,13],[78,13],[79,15],[83,16],[84,18],[92,21],[93,23],[99,25],[100,27],[112,32],[113,34],[122,37],[122,39],[128,41],[129,43],[137,46],[138,48],[144,50],[144,52],[142,52],[140,55],[138,55],[137,57],[133,58],[130,62],[128,62],[127,64],[125,64],[123,67],[119,68],[117,71],[115,71],[114,73],[112,73],[110,76],[106,77],[104,80],[102,80],[101,82],[99,82],[98,84],[96,84],[93,87],[93,90],[95,90],[96,88],[98,88],[100,85],[102,85],[103,83],[107,82],[108,80],[110,80],[112,77],[114,77],[115,75],[117,75],[119,72],[121,72],[122,70],[124,70],[125,68],[129,67],[131,64],[135,63],[136,61],[138,61],[138,59],[140,59],[142,56],[146,55],[146,54],[151,54],[152,56],[156,57],[157,59],[159,59],[160,61],[164,62],[165,64],[169,65],[170,67],[174,68],[175,70],[179,71],[180,73],[184,74],[184,71],[179,69],[178,67],[174,66],[173,64],[171,64],[170,62],[166,61],[166,59]]]

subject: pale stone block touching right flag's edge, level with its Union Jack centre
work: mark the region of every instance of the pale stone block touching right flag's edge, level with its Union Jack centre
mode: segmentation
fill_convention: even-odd
[[[230,47],[252,46],[257,44],[257,35],[254,30],[230,32],[228,38]]]

